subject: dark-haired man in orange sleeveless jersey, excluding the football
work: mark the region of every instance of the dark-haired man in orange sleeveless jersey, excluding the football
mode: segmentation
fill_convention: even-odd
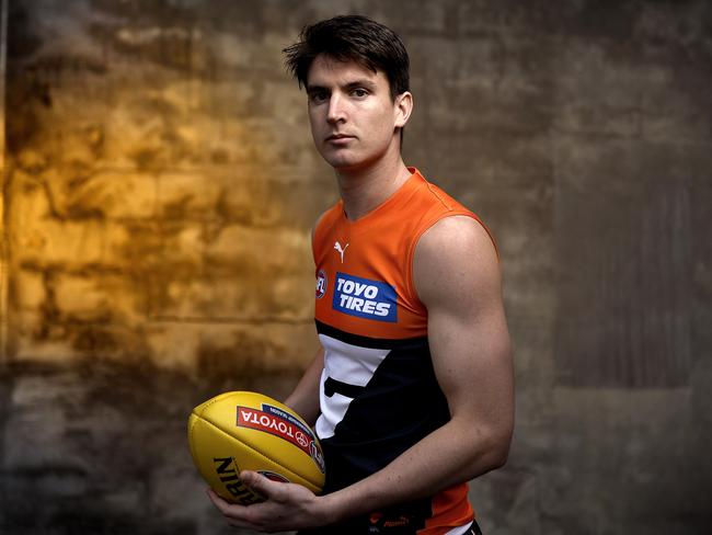
[[[287,65],[342,201],[313,232],[323,349],[286,403],[315,422],[326,488],[245,471],[264,503],[210,498],[257,531],[480,533],[467,481],[505,463],[514,421],[496,249],[401,158],[413,96],[398,36],[338,16],[300,37]]]

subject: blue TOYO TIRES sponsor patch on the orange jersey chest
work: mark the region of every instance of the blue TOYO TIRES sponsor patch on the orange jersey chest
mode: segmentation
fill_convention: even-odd
[[[336,273],[334,310],[394,323],[398,321],[397,299],[395,288],[388,283]]]

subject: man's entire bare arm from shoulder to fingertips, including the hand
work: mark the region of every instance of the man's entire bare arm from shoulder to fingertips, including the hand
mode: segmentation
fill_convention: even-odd
[[[443,219],[421,239],[413,276],[428,309],[430,353],[450,421],[382,470],[324,497],[244,474],[245,482],[271,500],[249,508],[216,501],[233,525],[291,530],[338,522],[433,494],[505,463],[514,386],[492,241],[470,218]]]

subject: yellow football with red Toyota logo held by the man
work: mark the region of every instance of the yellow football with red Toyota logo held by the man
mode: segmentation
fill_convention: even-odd
[[[188,418],[191,455],[210,488],[232,503],[263,497],[244,486],[254,470],[319,493],[324,457],[313,431],[295,411],[256,392],[226,392],[198,405]]]

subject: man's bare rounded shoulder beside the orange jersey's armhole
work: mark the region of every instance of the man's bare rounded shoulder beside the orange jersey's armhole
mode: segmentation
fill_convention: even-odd
[[[423,234],[413,258],[413,282],[427,306],[499,293],[499,261],[487,230],[467,216],[445,217]]]

